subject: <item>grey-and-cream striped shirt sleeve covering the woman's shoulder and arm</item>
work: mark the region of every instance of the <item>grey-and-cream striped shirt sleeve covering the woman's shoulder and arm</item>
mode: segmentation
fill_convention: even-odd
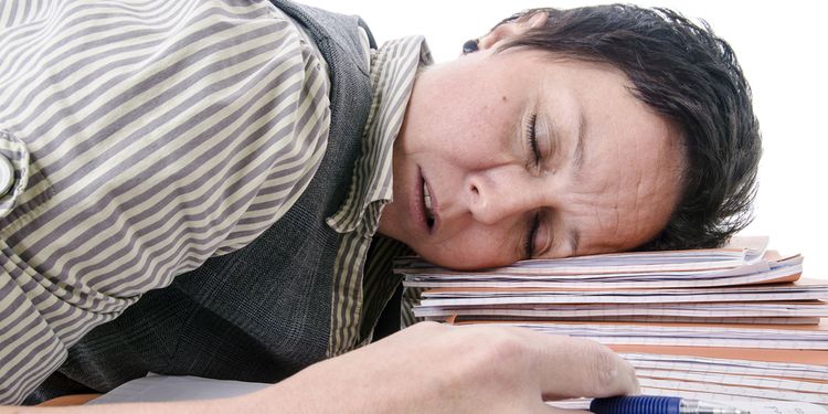
[[[3,3],[0,403],[301,195],[330,112],[299,30],[265,0]]]

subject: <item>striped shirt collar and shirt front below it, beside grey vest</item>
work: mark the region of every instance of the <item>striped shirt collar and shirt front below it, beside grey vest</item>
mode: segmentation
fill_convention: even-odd
[[[360,318],[364,314],[363,300],[379,300],[384,304],[393,294],[393,288],[389,288],[386,284],[367,284],[369,279],[393,277],[390,267],[385,269],[386,275],[370,275],[364,280],[363,270],[382,208],[392,198],[391,152],[402,126],[414,77],[422,65],[431,63],[431,52],[422,36],[390,41],[378,51],[372,51],[371,109],[362,139],[362,155],[354,166],[352,184],[346,202],[335,215],[328,217],[328,224],[341,233],[335,262],[330,355],[347,352],[367,339],[360,336]],[[370,259],[390,261],[389,255],[381,253]],[[379,269],[384,267],[369,268],[380,272]],[[368,295],[369,287],[372,289],[372,296]],[[370,314],[373,316],[374,311]]]

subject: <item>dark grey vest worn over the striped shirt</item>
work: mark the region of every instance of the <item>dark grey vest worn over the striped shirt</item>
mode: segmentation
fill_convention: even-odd
[[[330,67],[330,137],[308,189],[251,245],[209,259],[92,330],[29,402],[78,386],[106,392],[149,371],[276,382],[326,357],[339,235],[325,219],[348,195],[371,104],[358,33],[364,23],[272,1],[308,29]]]

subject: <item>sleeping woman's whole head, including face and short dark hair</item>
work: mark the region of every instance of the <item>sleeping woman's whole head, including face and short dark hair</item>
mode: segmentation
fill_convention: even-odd
[[[711,245],[743,225],[724,201],[747,204],[758,139],[726,44],[669,12],[597,7],[529,11],[479,49],[417,78],[381,232],[469,268]]]

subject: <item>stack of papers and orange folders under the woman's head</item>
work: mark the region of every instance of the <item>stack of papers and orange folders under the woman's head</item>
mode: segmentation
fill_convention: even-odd
[[[828,280],[767,237],[714,250],[534,259],[454,272],[404,257],[416,317],[590,338],[625,357],[641,391],[828,406]],[[826,319],[822,319],[826,318]]]

